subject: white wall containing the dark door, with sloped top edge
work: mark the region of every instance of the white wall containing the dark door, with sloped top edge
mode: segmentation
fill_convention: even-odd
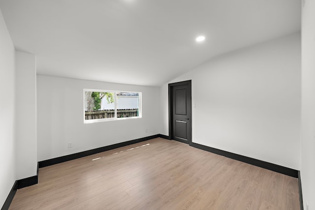
[[[299,169],[300,33],[222,55],[192,80],[192,142]],[[160,133],[168,135],[168,87]]]

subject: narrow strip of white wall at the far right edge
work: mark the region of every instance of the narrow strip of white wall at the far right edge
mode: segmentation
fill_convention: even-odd
[[[303,2],[303,1],[302,1]],[[315,1],[302,6],[301,180],[303,204],[315,210]]]

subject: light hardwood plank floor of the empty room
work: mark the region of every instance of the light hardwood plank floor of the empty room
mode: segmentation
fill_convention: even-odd
[[[10,209],[299,210],[298,180],[157,138],[41,168]]]

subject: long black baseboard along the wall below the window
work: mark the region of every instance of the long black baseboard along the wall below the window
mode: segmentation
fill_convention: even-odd
[[[118,143],[118,144],[114,144],[114,145],[109,145],[109,146],[105,146],[105,147],[101,147],[101,148],[96,148],[96,149],[93,149],[93,150],[81,151],[81,152],[74,153],[74,154],[68,154],[68,155],[61,156],[61,157],[56,157],[56,158],[52,158],[52,159],[48,159],[48,160],[39,161],[39,168],[55,165],[55,164],[58,164],[58,163],[63,163],[63,162],[69,161],[69,160],[74,160],[74,159],[77,159],[77,158],[89,156],[89,155],[96,154],[96,153],[103,152],[103,151],[107,151],[107,150],[113,150],[113,149],[116,149],[116,148],[125,147],[125,146],[128,146],[128,145],[136,144],[136,143],[147,141],[147,140],[150,140],[150,139],[155,139],[155,138],[158,138],[158,137],[159,137],[159,135],[156,134],[156,135],[153,135],[153,136],[147,136],[147,137],[143,137],[143,138],[140,138],[140,139],[135,139],[135,140],[126,141],[126,142],[122,142],[122,143]]]

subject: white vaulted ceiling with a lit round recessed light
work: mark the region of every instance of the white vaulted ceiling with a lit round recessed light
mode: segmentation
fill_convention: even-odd
[[[38,74],[147,86],[301,28],[300,0],[0,0],[0,8]]]

